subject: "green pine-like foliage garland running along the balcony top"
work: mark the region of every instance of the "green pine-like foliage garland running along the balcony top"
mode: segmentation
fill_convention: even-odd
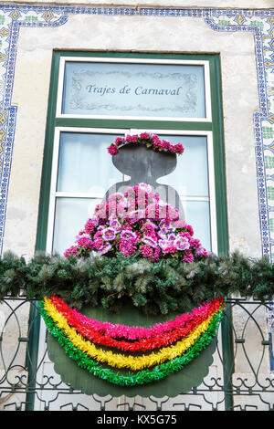
[[[177,258],[150,262],[136,256],[96,256],[79,260],[37,253],[28,263],[11,252],[0,259],[0,301],[41,299],[57,294],[70,306],[101,305],[119,311],[125,301],[144,313],[188,311],[231,294],[272,300],[274,267],[266,258],[234,253],[183,263]]]

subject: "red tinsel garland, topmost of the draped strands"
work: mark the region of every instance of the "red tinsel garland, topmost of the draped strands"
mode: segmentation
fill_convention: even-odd
[[[158,332],[161,330],[167,330],[163,333],[158,333],[157,335],[142,340],[126,341],[126,340],[115,340],[107,332],[107,330],[102,333],[101,323],[98,320],[90,319],[82,314],[80,314],[75,309],[71,309],[68,305],[57,296],[50,298],[51,303],[54,307],[61,313],[67,320],[69,326],[75,328],[79,334],[84,338],[91,340],[93,343],[100,344],[102,346],[112,347],[121,351],[152,351],[160,347],[167,346],[168,344],[173,343],[176,340],[180,340],[185,337],[188,333],[194,330],[202,321],[205,321],[209,316],[211,316],[220,306],[223,304],[223,298],[213,299],[210,303],[207,303],[201,306],[199,309],[195,309],[192,314],[184,314],[175,320],[170,320],[169,322],[164,322],[160,324],[155,324],[153,329],[148,330],[148,334],[151,336],[155,334],[155,331]],[[162,326],[164,325],[164,327]],[[172,326],[179,325],[179,328],[171,330]],[[114,325],[111,325],[114,328]],[[136,327],[134,327],[136,330]],[[161,328],[161,329],[160,329]],[[120,336],[129,334],[129,327],[120,327]],[[132,334],[131,334],[132,339]]]

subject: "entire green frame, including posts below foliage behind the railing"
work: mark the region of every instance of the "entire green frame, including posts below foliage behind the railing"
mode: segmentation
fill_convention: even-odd
[[[98,58],[155,58],[155,59],[186,59],[203,60],[208,62],[210,75],[210,98],[211,113],[210,121],[187,121],[187,120],[99,120],[99,119],[66,119],[57,117],[58,96],[58,71],[60,58],[62,57],[98,57]],[[227,193],[226,193],[226,167],[223,137],[223,110],[220,58],[216,55],[186,55],[186,54],[151,54],[151,53],[120,53],[120,52],[75,52],[54,51],[51,68],[51,81],[48,96],[47,129],[45,137],[45,151],[42,167],[41,188],[39,198],[39,211],[37,220],[37,242],[36,250],[45,251],[47,245],[47,223],[48,207],[50,199],[50,183],[52,171],[52,158],[54,147],[54,134],[56,127],[76,128],[117,128],[117,129],[151,129],[174,130],[174,131],[211,131],[213,140],[214,174],[215,174],[215,198],[216,198],[216,237],[218,254],[228,253],[228,230],[227,230]],[[227,316],[230,309],[227,306]],[[40,318],[35,307],[30,310],[30,323],[34,322],[34,330],[29,341],[29,356],[27,361],[32,362],[31,368],[35,368],[39,347]],[[231,330],[225,319],[222,323],[222,343],[224,349],[224,378],[227,389],[230,386],[230,377],[226,368],[233,362],[233,345]],[[29,373],[31,385],[35,388],[35,373]],[[26,410],[34,408],[35,392],[27,394]],[[231,395],[225,398],[226,409],[231,407]]]

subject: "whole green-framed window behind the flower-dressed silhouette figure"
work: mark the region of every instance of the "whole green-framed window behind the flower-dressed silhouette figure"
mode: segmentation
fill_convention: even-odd
[[[227,252],[218,57],[70,52],[53,57],[38,249],[63,253],[74,243],[111,185],[125,180],[107,147],[142,131],[184,145],[158,183],[177,190],[205,248]]]

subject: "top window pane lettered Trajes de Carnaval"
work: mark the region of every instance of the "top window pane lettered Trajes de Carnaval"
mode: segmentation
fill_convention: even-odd
[[[205,118],[204,66],[67,61],[62,113]]]

